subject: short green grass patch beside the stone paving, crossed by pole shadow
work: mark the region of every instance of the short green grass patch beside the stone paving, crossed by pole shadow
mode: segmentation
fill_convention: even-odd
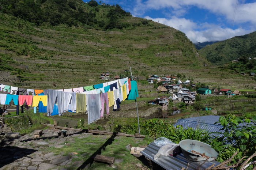
[[[70,143],[70,146],[64,146],[62,148],[54,148],[50,147],[47,149],[46,153],[53,152],[55,155],[64,152],[64,155],[68,155],[72,152],[77,152],[78,158],[73,159],[72,161],[86,161],[90,158],[91,155],[95,153],[102,146],[104,149],[97,154],[105,155],[105,156],[113,156],[115,159],[123,159],[121,163],[114,163],[116,169],[120,170],[130,170],[130,169],[139,169],[136,167],[136,163],[141,163],[139,159],[135,158],[130,154],[125,146],[131,144],[134,147],[142,147],[147,146],[147,139],[140,140],[135,139],[133,137],[125,137],[125,136],[116,136],[111,138],[110,135],[91,135],[85,136],[82,139],[75,138],[74,141],[66,141],[65,143]],[[65,144],[63,143],[63,144]],[[93,162],[90,160],[90,162]],[[64,167],[64,166],[63,166]],[[61,168],[61,167],[60,167]],[[76,166],[72,166],[70,170],[76,170]],[[113,167],[109,167],[104,163],[93,163],[89,169],[97,169],[97,170],[112,170]]]

